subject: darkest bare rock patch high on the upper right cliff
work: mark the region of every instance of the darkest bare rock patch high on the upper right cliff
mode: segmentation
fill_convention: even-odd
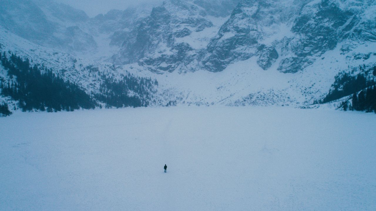
[[[321,56],[347,38],[357,22],[356,15],[341,9],[336,1],[307,5],[291,29],[299,35],[293,41],[293,50],[299,57]]]

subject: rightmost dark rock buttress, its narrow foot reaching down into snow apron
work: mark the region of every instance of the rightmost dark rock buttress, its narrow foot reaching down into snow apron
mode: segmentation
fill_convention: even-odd
[[[349,1],[346,3],[350,4]],[[283,54],[293,53],[294,56],[281,60],[278,70],[281,72],[300,71],[311,65],[315,57],[334,50],[339,43],[346,41],[349,37],[358,41],[376,38],[372,36],[372,33],[361,35],[364,30],[369,32],[372,28],[359,26],[362,12],[364,11],[354,11],[337,0],[313,1],[305,5],[291,28],[294,36],[282,49]],[[370,21],[363,21],[361,25],[367,25],[367,23]],[[343,51],[350,51],[349,46]]]

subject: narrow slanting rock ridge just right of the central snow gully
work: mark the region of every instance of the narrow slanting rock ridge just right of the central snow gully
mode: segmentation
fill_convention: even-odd
[[[208,53],[202,60],[206,69],[212,72],[222,71],[230,63],[249,59],[257,53],[261,33],[253,17],[257,15],[260,6],[254,0],[238,4],[208,45]]]

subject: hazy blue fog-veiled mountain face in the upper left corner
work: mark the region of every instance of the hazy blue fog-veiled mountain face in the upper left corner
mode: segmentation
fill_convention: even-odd
[[[1,0],[0,23],[38,45],[67,51],[92,51],[96,42],[76,24],[89,20],[85,12],[49,0]]]

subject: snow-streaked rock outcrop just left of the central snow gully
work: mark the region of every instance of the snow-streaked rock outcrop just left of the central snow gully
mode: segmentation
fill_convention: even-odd
[[[181,62],[191,62],[193,56],[187,56],[188,51],[196,54],[188,43],[177,42],[176,38],[212,27],[206,16],[203,9],[192,3],[167,1],[137,23],[112,59],[117,64],[138,62],[151,71],[172,72]]]

